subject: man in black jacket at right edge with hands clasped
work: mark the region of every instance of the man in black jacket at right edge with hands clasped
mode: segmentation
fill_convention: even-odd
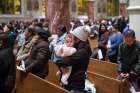
[[[140,90],[140,42],[135,32],[128,30],[124,34],[124,43],[119,47],[119,79],[129,79],[136,90]]]

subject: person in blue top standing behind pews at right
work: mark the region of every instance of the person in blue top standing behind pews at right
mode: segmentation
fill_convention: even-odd
[[[107,44],[107,57],[112,63],[117,63],[119,45],[123,42],[123,35],[116,24],[113,25],[112,34],[109,36]]]

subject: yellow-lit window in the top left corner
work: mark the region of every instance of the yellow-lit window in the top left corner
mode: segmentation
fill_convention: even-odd
[[[21,14],[21,0],[1,0],[0,14]]]

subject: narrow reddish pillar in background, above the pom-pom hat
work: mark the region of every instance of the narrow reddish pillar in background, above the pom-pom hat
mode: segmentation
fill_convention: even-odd
[[[94,20],[94,2],[95,0],[87,0],[87,15],[89,20]]]

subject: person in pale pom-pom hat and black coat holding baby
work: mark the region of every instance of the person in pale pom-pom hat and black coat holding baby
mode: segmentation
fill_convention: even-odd
[[[85,72],[89,64],[89,58],[91,56],[91,49],[87,43],[90,28],[88,26],[80,26],[70,32],[73,36],[74,48],[77,51],[71,56],[62,58],[57,61],[56,64],[59,67],[72,66],[71,74],[68,78],[68,85],[64,88],[71,93],[84,93],[85,88]]]

